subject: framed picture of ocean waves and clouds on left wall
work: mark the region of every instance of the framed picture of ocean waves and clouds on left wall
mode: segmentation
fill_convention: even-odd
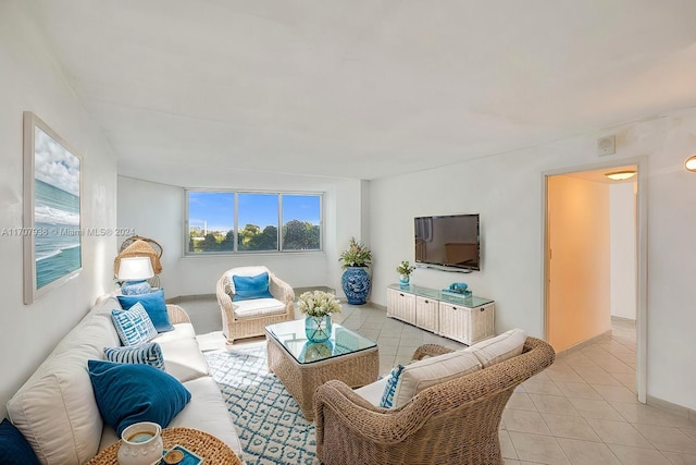
[[[24,303],[79,273],[82,159],[41,119],[24,112]]]

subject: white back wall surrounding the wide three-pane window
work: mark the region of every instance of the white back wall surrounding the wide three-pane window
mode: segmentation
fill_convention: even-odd
[[[343,295],[338,256],[351,236],[361,238],[368,229],[361,213],[369,195],[368,184],[339,178],[275,178],[264,173],[246,173],[244,179],[191,178],[188,182],[188,187],[296,192],[301,186],[303,192],[323,192],[324,252],[184,257],[184,188],[119,176],[119,225],[134,228],[137,234],[162,245],[160,280],[167,298],[214,294],[215,283],[225,270],[246,265],[265,265],[294,287],[326,285]]]

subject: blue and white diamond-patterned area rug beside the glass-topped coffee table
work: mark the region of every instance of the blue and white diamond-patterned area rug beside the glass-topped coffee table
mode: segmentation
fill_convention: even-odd
[[[316,465],[314,424],[266,366],[265,344],[207,352],[227,409],[240,429],[247,465]]]

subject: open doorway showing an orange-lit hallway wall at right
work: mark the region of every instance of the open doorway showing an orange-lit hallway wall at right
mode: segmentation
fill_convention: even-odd
[[[610,181],[613,171],[638,171]],[[546,339],[572,352],[611,334],[612,316],[636,325],[636,391],[645,402],[645,215],[638,163],[547,173]],[[626,211],[630,210],[630,211]]]

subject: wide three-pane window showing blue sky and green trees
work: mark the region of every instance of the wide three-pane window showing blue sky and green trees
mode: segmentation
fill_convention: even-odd
[[[186,191],[186,255],[322,248],[321,194]]]

